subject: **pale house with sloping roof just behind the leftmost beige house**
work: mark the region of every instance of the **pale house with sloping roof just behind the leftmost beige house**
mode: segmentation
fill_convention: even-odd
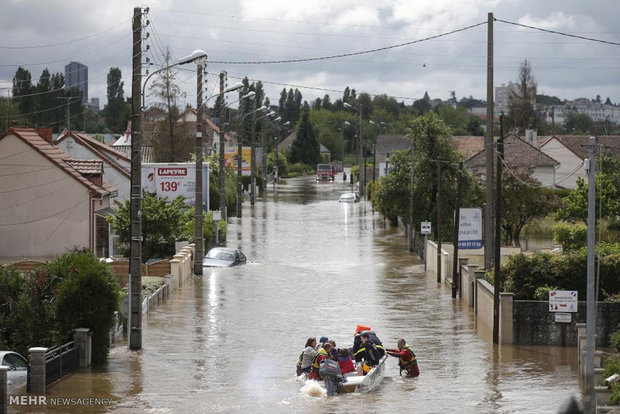
[[[71,158],[101,161],[106,182],[118,190],[117,200],[129,200],[131,160],[127,155],[83,132],[65,130],[54,145]]]

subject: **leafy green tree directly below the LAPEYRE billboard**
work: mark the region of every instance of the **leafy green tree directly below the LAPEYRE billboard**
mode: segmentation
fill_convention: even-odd
[[[118,211],[109,217],[114,232],[118,234],[119,241],[124,250],[129,249],[129,212],[130,203],[116,201]],[[166,197],[157,197],[149,193],[143,193],[142,197],[142,260],[144,262],[152,258],[170,257],[175,253],[174,242],[181,240],[183,212],[187,209],[183,197],[168,202]]]

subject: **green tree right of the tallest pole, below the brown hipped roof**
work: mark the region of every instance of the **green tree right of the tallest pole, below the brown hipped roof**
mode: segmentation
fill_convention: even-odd
[[[551,189],[540,186],[531,174],[513,169],[502,172],[501,226],[508,242],[521,246],[520,235],[526,224],[557,209],[560,200]]]

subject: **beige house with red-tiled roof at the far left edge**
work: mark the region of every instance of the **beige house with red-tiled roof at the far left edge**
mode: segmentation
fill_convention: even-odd
[[[76,160],[32,128],[0,135],[2,262],[47,260],[85,247],[109,254],[110,199],[103,161]]]

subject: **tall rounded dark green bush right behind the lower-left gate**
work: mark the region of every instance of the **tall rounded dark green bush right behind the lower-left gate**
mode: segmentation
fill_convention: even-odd
[[[56,295],[56,317],[60,334],[70,339],[75,328],[93,332],[93,362],[107,359],[109,332],[118,309],[120,286],[107,263],[90,251],[73,250],[46,266],[62,282]]]

